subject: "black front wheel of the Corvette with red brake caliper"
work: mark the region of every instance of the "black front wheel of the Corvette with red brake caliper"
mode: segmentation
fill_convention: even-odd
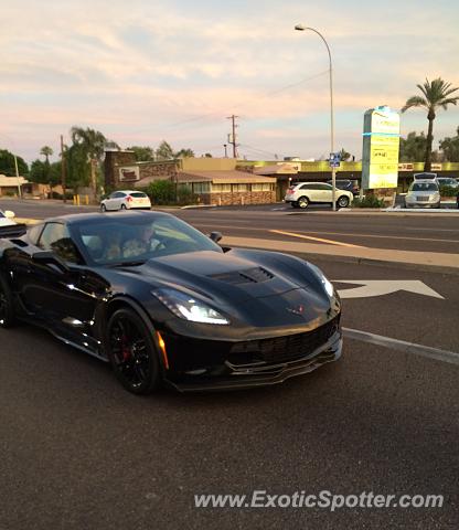
[[[132,309],[116,310],[108,320],[106,352],[118,381],[132,394],[150,394],[161,382],[152,333]]]

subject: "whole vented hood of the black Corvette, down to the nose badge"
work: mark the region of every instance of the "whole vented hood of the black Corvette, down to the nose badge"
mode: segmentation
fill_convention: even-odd
[[[298,273],[286,263],[238,251],[174,254],[118,273],[137,276],[152,289],[192,292],[233,321],[258,327],[311,322],[332,311],[330,297],[308,267]]]

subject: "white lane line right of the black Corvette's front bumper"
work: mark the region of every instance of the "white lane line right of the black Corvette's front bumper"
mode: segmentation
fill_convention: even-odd
[[[414,353],[416,356],[435,359],[436,361],[448,362],[450,364],[459,364],[459,353],[455,351],[431,348],[430,346],[417,344],[406,340],[393,339],[382,335],[369,333],[359,329],[342,328],[344,337],[348,339],[370,342],[371,344],[383,346],[393,350],[403,351],[404,353]]]

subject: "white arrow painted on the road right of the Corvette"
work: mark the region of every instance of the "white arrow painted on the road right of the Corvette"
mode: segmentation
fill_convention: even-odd
[[[445,299],[419,279],[334,279],[333,283],[360,285],[360,287],[353,289],[340,289],[338,293],[341,298],[367,298],[370,296],[389,295],[397,290],[407,290],[417,295]]]

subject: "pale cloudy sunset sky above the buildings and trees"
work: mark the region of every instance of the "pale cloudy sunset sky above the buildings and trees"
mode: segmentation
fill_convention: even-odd
[[[330,46],[335,150],[357,160],[366,109],[401,109],[426,77],[459,86],[457,0],[0,0],[0,148],[29,162],[72,126],[221,157],[231,115],[241,157],[328,156],[329,57],[298,23]],[[434,147],[458,126],[459,106],[439,110]],[[425,113],[401,128],[426,131]]]

